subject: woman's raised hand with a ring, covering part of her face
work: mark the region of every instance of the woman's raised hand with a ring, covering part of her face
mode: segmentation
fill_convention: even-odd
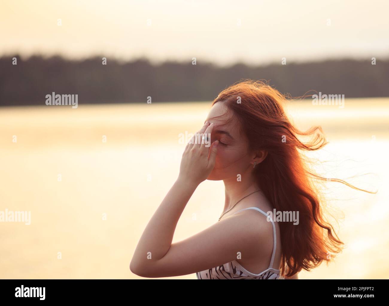
[[[197,186],[212,172],[219,143],[216,140],[209,145],[213,127],[214,124],[209,124],[207,121],[186,145],[181,159],[180,180]],[[203,136],[208,137],[208,141],[203,140]]]

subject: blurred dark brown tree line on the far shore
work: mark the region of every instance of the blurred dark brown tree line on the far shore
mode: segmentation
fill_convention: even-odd
[[[12,65],[12,58],[17,65]],[[291,96],[344,94],[346,98],[389,96],[389,59],[371,65],[366,60],[327,60],[310,63],[219,67],[211,63],[167,61],[152,65],[147,59],[120,62],[102,57],[68,60],[58,56],[0,58],[0,105],[44,105],[46,94],[78,94],[82,103],[147,101],[210,101],[240,79],[267,80]],[[315,91],[315,92],[313,92]]]

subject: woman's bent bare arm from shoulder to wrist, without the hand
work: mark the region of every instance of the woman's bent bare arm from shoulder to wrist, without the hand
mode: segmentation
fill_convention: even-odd
[[[175,192],[186,194],[187,191],[182,191],[180,186],[180,183],[173,185],[167,197]],[[181,207],[181,204],[176,204]],[[166,205],[168,203],[162,203],[160,208]],[[177,222],[172,224],[168,220],[178,219],[178,207],[168,208],[168,212],[158,208],[150,220],[130,264],[134,274],[150,278],[187,275],[236,260],[238,252],[242,257],[252,257],[255,255],[252,245],[261,244],[272,230],[265,218],[259,219],[258,214],[245,211],[171,244]],[[156,217],[162,213],[166,222],[160,222]],[[151,252],[151,259],[148,259],[147,252]]]

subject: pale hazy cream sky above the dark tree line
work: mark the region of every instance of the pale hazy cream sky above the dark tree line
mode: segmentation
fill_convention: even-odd
[[[220,65],[378,59],[389,54],[388,11],[386,0],[1,0],[0,56],[196,57]]]

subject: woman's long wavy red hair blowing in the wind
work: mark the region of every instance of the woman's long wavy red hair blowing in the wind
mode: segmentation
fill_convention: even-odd
[[[281,274],[291,277],[301,269],[310,271],[322,261],[328,263],[333,254],[342,251],[341,245],[344,244],[331,224],[324,220],[320,193],[312,179],[342,182],[354,189],[366,190],[340,179],[321,177],[309,170],[298,149],[318,150],[328,142],[320,126],[303,132],[291,124],[283,106],[287,100],[268,84],[245,79],[221,91],[212,105],[221,101],[226,103],[228,112],[233,112],[230,120],[238,120],[240,132],[249,140],[249,150],[264,149],[268,152],[254,173],[259,188],[273,209],[299,212],[298,225],[280,222]],[[315,136],[310,142],[303,143],[298,135]]]

